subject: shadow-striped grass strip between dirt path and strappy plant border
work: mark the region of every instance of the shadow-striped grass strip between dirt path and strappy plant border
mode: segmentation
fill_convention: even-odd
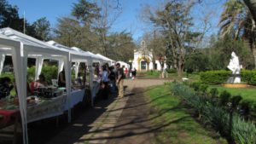
[[[179,98],[171,94],[168,84],[149,89],[147,95],[155,108],[151,115],[153,123],[166,125],[155,135],[155,143],[227,143],[213,130],[206,130],[198,124]]]

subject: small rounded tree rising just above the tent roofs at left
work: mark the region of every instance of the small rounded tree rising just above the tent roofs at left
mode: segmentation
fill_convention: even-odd
[[[36,36],[38,39],[48,41],[50,39],[50,24],[46,17],[38,19],[32,26],[35,28]]]

